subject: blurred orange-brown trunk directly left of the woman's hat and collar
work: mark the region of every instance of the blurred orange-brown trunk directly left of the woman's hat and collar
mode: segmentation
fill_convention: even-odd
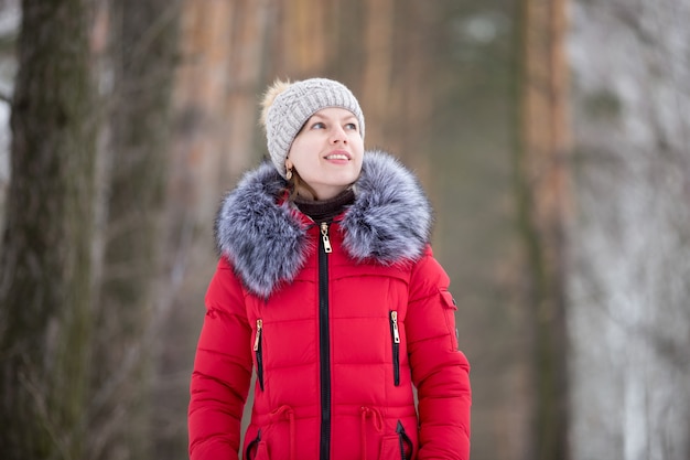
[[[190,365],[203,321],[203,298],[215,269],[213,224],[218,200],[257,160],[258,97],[267,55],[270,0],[185,0],[182,62],[174,87],[175,127],[168,194],[163,296],[170,314],[159,336],[155,457],[187,448]],[[261,149],[263,150],[263,149]]]

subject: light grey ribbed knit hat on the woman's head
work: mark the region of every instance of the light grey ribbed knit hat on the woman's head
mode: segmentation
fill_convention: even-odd
[[[283,178],[292,141],[306,120],[323,108],[341,107],[352,111],[357,117],[364,139],[364,114],[355,96],[342,83],[327,78],[310,78],[292,84],[277,82],[267,93],[267,99],[272,99],[263,103],[268,152]]]

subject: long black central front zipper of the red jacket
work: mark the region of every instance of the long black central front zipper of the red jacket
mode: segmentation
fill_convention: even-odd
[[[321,442],[320,459],[331,458],[331,333],[328,324],[328,223],[321,223],[319,239],[319,353],[321,368]]]

